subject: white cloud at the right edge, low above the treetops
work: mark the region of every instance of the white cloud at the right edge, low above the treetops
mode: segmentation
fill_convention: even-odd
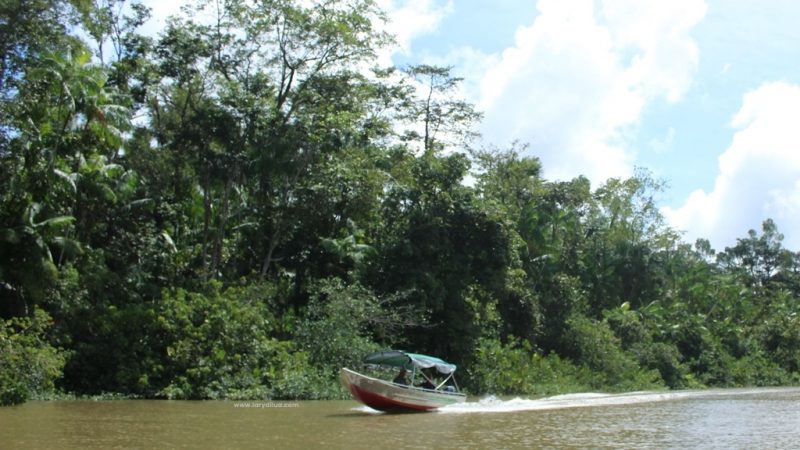
[[[719,157],[711,192],[693,192],[677,209],[663,212],[693,242],[708,238],[718,250],[761,231],[772,218],[784,232],[800,229],[800,86],[767,83],[744,96],[731,125],[738,131]],[[800,236],[786,233],[787,248]]]

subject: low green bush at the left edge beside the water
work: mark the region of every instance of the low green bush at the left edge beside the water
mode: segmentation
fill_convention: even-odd
[[[32,317],[0,319],[0,406],[53,391],[64,353],[48,342],[50,324],[50,316],[38,308]]]

